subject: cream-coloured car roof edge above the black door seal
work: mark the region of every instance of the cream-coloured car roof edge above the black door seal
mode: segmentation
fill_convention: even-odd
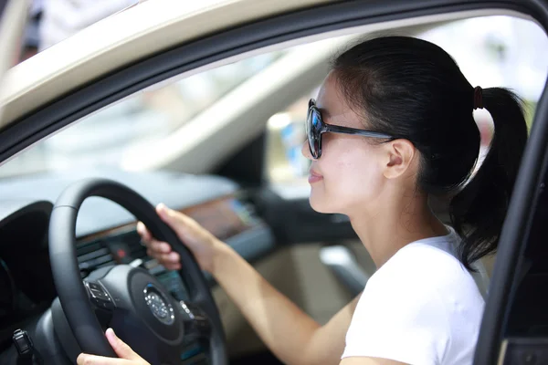
[[[0,127],[115,68],[219,30],[331,0],[153,0],[101,20],[12,68]]]

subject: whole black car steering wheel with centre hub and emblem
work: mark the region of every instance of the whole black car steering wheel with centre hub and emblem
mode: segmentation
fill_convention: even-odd
[[[142,221],[154,237],[172,245],[181,256],[182,269],[178,273],[188,287],[187,301],[176,300],[140,267],[104,267],[82,280],[75,230],[79,208],[90,196],[120,204]],[[61,339],[63,347],[67,350],[66,343],[74,343],[74,339],[78,344],[77,350],[69,351],[70,360],[76,360],[79,350],[115,358],[103,332],[110,326],[152,364],[180,364],[181,354],[196,342],[205,346],[213,365],[228,363],[223,326],[204,273],[153,205],[130,188],[105,179],[70,185],[58,197],[51,214],[49,256],[60,304],[57,311],[55,303],[52,305],[56,333],[64,322],[67,328],[62,332],[71,331],[73,337]],[[63,318],[59,319],[61,315]]]

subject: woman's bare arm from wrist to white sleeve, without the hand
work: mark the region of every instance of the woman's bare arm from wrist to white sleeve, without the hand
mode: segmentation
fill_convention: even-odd
[[[338,364],[358,297],[320,326],[225,245],[213,275],[279,360],[290,365]]]

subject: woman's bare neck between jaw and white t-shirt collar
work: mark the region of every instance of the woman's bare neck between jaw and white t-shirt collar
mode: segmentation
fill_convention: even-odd
[[[393,195],[394,196],[394,195]],[[432,213],[427,196],[395,195],[375,212],[349,214],[353,230],[380,268],[402,247],[420,239],[447,235],[447,228]]]

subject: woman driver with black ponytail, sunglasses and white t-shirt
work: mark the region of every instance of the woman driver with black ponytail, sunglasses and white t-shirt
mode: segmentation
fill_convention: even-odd
[[[469,181],[480,135],[472,111],[494,120],[490,151]],[[472,87],[449,55],[431,43],[389,36],[337,57],[311,100],[310,202],[346,214],[377,271],[364,292],[320,326],[184,214],[158,214],[234,300],[261,339],[288,364],[471,364],[483,299],[471,265],[495,251],[527,128],[507,89]],[[450,200],[451,226],[428,207]],[[180,267],[169,245],[139,231],[165,266]],[[143,364],[107,337],[125,364]],[[89,361],[89,362],[86,362]],[[114,364],[81,355],[79,364]]]

